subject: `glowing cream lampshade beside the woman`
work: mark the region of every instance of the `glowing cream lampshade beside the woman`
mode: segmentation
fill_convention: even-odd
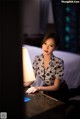
[[[23,59],[23,80],[24,82],[34,81],[35,75],[30,61],[29,53],[27,48],[22,48],[22,59]]]

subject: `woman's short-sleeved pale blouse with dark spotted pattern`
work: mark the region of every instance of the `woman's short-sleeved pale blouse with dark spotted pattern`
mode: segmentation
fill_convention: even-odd
[[[47,69],[44,69],[43,54],[36,56],[33,62],[34,73],[45,82],[45,85],[53,85],[55,78],[63,79],[64,62],[62,59],[51,56]]]

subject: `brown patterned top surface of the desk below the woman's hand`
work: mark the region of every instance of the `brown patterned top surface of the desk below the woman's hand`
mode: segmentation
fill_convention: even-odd
[[[40,92],[35,94],[25,94],[25,97],[31,99],[30,101],[25,102],[26,115],[29,118],[64,104],[63,102]]]

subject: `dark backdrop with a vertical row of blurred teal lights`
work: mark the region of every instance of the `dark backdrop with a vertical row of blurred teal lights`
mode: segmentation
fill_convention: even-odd
[[[52,0],[52,8],[60,49],[80,54],[80,3],[63,4]]]

